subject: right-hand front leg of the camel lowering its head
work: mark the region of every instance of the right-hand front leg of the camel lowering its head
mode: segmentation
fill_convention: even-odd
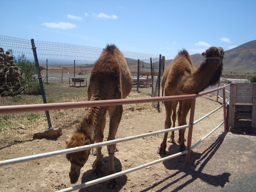
[[[118,105],[110,108],[111,109],[108,110],[110,122],[109,122],[109,133],[108,133],[107,140],[114,140],[116,139],[116,132],[122,118],[123,106]],[[114,152],[116,149],[116,144],[108,145],[107,148],[108,148],[108,157],[109,157],[108,174],[114,174],[116,173],[115,166],[114,166]],[[108,187],[110,188],[118,187],[118,182],[116,178],[108,181]]]

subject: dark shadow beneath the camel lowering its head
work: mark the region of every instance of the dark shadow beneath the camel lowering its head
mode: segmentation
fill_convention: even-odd
[[[85,183],[85,182],[88,182],[88,181],[91,181],[91,180],[95,180],[95,179],[107,176],[108,175],[108,165],[109,165],[108,164],[108,156],[103,157],[103,155],[102,155],[102,163],[103,163],[103,166],[102,166],[103,175],[92,174],[92,169],[87,170],[82,175],[82,182],[81,183]],[[120,160],[118,160],[115,156],[114,156],[114,164],[115,164],[116,172],[122,171],[122,164],[121,164]],[[116,179],[119,183],[119,186],[118,186],[117,189],[114,189],[114,190],[119,191],[126,184],[127,176],[126,175],[119,176]],[[113,189],[108,188],[107,182],[108,181],[104,181],[104,182],[101,182],[101,183],[98,183],[98,184],[95,184],[95,185],[92,185],[92,186],[88,186],[86,188],[82,188],[82,189],[79,190],[79,192],[88,192],[88,191],[112,192]]]

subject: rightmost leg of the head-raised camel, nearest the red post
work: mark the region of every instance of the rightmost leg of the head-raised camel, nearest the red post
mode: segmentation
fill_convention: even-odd
[[[183,106],[182,106],[182,118],[179,126],[186,125],[186,117],[188,116],[188,112],[190,110],[191,100],[183,100]],[[181,137],[180,137],[180,151],[186,150],[185,146],[185,129],[180,130]]]

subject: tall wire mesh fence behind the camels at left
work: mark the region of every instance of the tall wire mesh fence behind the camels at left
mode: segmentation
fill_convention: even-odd
[[[1,106],[86,101],[91,69],[102,52],[102,48],[30,41],[6,36],[0,36],[0,47],[3,48],[1,56],[5,57],[0,65]],[[33,50],[34,54],[36,52],[37,60]],[[160,59],[161,55],[126,51],[122,53],[133,78],[133,87],[128,98],[158,96],[160,91],[158,79],[159,75],[162,76],[160,63],[164,62],[164,59]],[[8,63],[5,59],[10,60],[10,56],[13,62]],[[8,79],[10,74],[13,74],[12,80]],[[151,104],[133,106],[138,107],[138,105],[143,107]],[[124,106],[124,108],[128,107],[130,106]],[[50,126],[49,120],[52,127],[68,126],[82,117],[85,112],[84,108],[79,108],[53,110],[48,113],[0,114],[0,137],[6,134],[26,133],[28,130],[46,130]]]

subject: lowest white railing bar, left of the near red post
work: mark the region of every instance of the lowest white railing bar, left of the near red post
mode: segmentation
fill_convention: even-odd
[[[140,165],[140,166],[136,166],[136,167],[130,168],[128,170],[120,171],[118,173],[114,173],[114,174],[111,174],[111,175],[108,175],[108,176],[104,176],[102,178],[98,178],[98,179],[95,179],[95,180],[92,180],[92,181],[88,181],[88,182],[82,183],[80,185],[76,185],[76,186],[73,186],[73,187],[62,189],[62,190],[59,190],[58,192],[70,192],[70,191],[78,190],[78,189],[85,188],[85,187],[88,187],[88,186],[92,186],[94,184],[98,184],[98,183],[101,183],[101,182],[104,182],[104,181],[107,181],[107,180],[110,180],[110,179],[113,179],[113,178],[116,178],[116,177],[128,174],[130,172],[134,172],[134,171],[140,170],[142,168],[146,168],[148,166],[152,166],[154,164],[157,164],[157,163],[160,163],[160,162],[164,162],[164,161],[176,158],[178,156],[182,156],[182,155],[187,154],[187,153],[188,153],[188,150],[185,150],[185,151],[182,151],[182,152],[178,152],[176,154],[173,154],[173,155],[170,155],[170,156],[167,156],[167,157],[164,157],[164,158],[160,158],[158,160],[155,160],[155,161],[152,161],[152,162]]]

